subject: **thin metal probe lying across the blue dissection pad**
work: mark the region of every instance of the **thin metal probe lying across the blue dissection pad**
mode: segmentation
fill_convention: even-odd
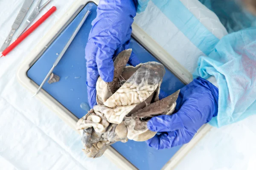
[[[86,14],[84,15],[83,19],[81,20],[81,22],[79,23],[79,25],[77,26],[76,30],[74,31],[74,33],[72,34],[72,36],[70,37],[70,40],[68,40],[67,44],[64,46],[63,50],[61,51],[61,53],[58,55],[57,59],[55,60],[55,62],[53,63],[52,68],[50,69],[50,71],[48,72],[47,76],[44,78],[44,81],[41,83],[41,85],[39,86],[38,90],[36,91],[36,93],[32,96],[36,96],[38,94],[38,92],[41,90],[41,88],[43,87],[44,83],[47,81],[47,79],[49,78],[49,76],[52,74],[52,71],[54,70],[54,68],[58,65],[58,62],[61,60],[61,58],[63,57],[63,55],[65,54],[65,52],[67,51],[67,48],[70,46],[71,42],[74,40],[74,38],[76,37],[76,34],[78,33],[78,31],[80,30],[80,28],[82,27],[82,25],[84,24],[85,20],[87,19],[87,17],[89,16],[90,11],[88,10],[86,12]]]

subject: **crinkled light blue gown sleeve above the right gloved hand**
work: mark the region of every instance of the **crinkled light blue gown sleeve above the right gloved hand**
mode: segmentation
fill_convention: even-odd
[[[256,27],[223,37],[208,57],[200,57],[195,76],[214,76],[218,83],[216,127],[256,113]]]

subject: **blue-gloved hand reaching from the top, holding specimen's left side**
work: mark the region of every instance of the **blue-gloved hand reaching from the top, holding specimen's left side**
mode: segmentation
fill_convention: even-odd
[[[128,49],[131,24],[136,15],[137,0],[100,0],[97,17],[92,22],[85,47],[87,66],[87,93],[89,105],[96,105],[96,82],[100,76],[105,82],[113,80],[113,57]],[[140,61],[131,54],[128,64]]]

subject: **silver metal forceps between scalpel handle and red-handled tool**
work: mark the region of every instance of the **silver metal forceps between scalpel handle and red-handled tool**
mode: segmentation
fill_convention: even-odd
[[[30,14],[29,18],[26,20],[26,23],[24,24],[23,28],[21,29],[21,31],[19,32],[18,37],[20,37],[21,34],[23,34],[23,32],[26,30],[26,28],[28,28],[29,24],[32,23],[32,21],[35,19],[35,17],[39,14],[39,12],[45,7],[47,6],[47,4],[49,2],[51,2],[51,0],[48,0],[46,3],[44,3],[44,5],[40,6],[42,0],[38,0],[38,3],[35,6],[34,11],[32,12],[32,14]],[[39,7],[40,6],[40,7]],[[17,39],[16,38],[16,39]]]

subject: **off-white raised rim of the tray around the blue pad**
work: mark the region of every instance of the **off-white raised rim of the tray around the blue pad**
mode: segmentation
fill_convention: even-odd
[[[50,31],[42,38],[35,49],[26,57],[24,62],[17,70],[17,80],[27,88],[32,94],[34,94],[38,88],[29,77],[27,77],[27,71],[33,63],[44,53],[55,37],[67,26],[70,20],[79,13],[79,11],[88,3],[94,2],[99,4],[99,0],[76,0],[69,10],[58,20],[57,23],[50,29]],[[170,54],[168,54],[157,42],[148,36],[139,26],[135,23],[132,25],[132,37],[140,42],[144,48],[146,48],[154,57],[159,59],[164,65],[172,71],[176,77],[178,77],[183,83],[188,84],[192,81],[192,75],[180,65]],[[49,95],[43,89],[36,96],[41,102],[43,102],[49,109],[55,112],[67,125],[76,130],[76,122],[78,118],[68,111],[63,105],[56,101],[51,95]],[[187,153],[195,146],[195,144],[211,129],[208,124],[203,125],[194,138],[188,143],[183,145],[180,150],[166,163],[162,170],[172,170]],[[79,131],[76,130],[78,133]],[[80,133],[79,133],[80,134]],[[137,170],[137,168],[125,159],[120,153],[118,153],[113,147],[109,147],[104,153],[108,159],[116,164],[122,170]]]

